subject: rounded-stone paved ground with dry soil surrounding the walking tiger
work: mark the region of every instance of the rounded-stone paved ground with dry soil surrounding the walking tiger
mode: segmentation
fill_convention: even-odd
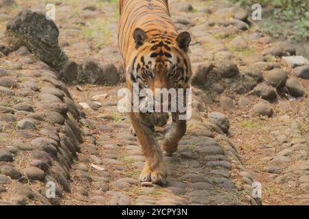
[[[253,181],[264,205],[309,204],[309,62],[293,45],[264,36],[229,1],[170,1],[194,38],[194,110],[164,157],[168,185],[143,186],[144,156],[117,111],[117,1],[55,1],[56,26],[42,36],[16,25],[35,13],[12,20],[50,2],[0,0],[1,204],[258,205]]]

